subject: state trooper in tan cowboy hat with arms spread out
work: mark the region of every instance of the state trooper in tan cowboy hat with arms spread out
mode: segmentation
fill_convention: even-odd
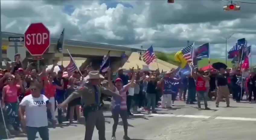
[[[81,97],[81,101],[85,104],[85,140],[91,140],[94,126],[98,129],[99,140],[105,138],[105,119],[100,106],[101,93],[109,96],[120,97],[120,94],[114,93],[107,88],[99,86],[100,79],[104,78],[99,71],[91,71],[85,77],[88,82],[81,88],[74,91],[69,97],[58,105],[59,108],[67,107],[68,103],[75,98]]]

